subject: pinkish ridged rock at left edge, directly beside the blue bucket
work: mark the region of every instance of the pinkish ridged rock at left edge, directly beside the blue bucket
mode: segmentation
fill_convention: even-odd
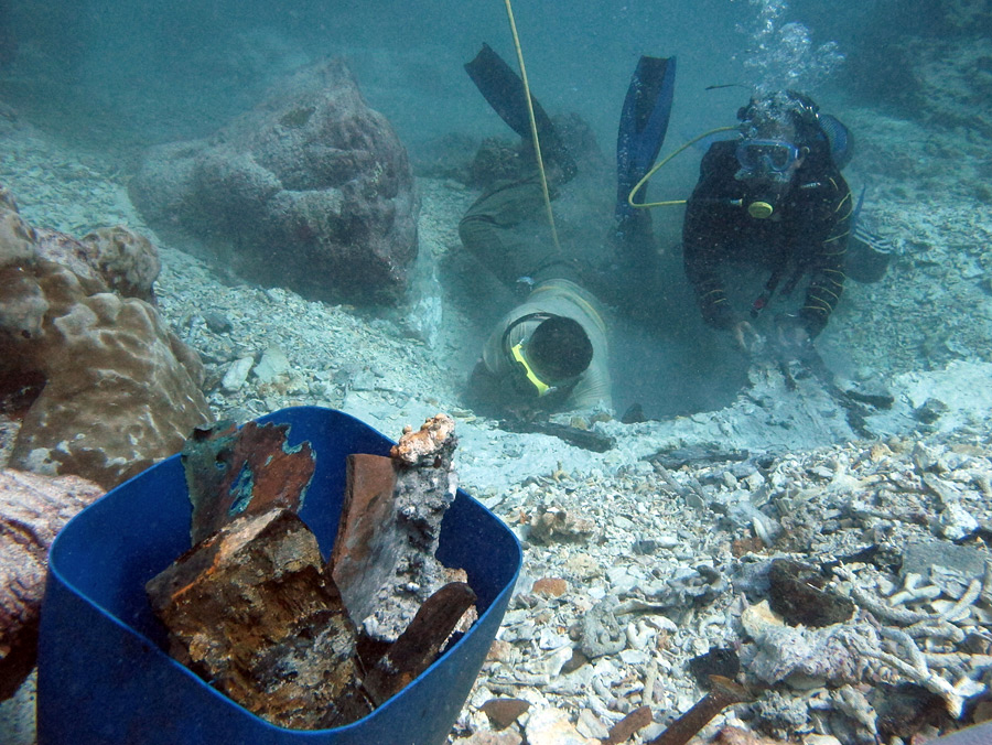
[[[103,494],[78,476],[0,471],[0,701],[17,692],[37,657],[48,548]]]

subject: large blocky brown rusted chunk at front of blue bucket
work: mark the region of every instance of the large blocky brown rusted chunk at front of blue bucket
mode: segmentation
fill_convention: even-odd
[[[273,724],[339,726],[371,704],[357,633],[316,539],[287,509],[244,515],[147,585],[170,651]]]

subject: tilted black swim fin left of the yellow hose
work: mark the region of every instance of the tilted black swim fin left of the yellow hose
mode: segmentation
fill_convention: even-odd
[[[488,44],[483,44],[475,58],[465,63],[465,72],[499,118],[529,143],[530,117],[520,76]],[[551,117],[532,95],[530,102],[544,160],[554,162],[565,180],[571,179],[575,174],[575,161],[556,134]]]

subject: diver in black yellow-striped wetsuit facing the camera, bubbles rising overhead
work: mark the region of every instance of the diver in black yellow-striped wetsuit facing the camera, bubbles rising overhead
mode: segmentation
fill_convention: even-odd
[[[788,294],[809,274],[798,313],[778,318],[783,347],[808,347],[837,307],[845,279],[854,205],[831,141],[842,125],[795,91],[753,98],[737,118],[742,137],[710,147],[687,204],[686,273],[703,320],[733,331],[745,349],[757,338],[752,321],[781,281],[781,294]],[[733,264],[769,272],[747,315],[727,299],[724,274]]]

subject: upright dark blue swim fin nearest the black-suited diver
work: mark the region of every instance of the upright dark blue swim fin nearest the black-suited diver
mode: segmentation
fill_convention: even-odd
[[[655,164],[665,142],[675,94],[675,57],[643,56],[630,78],[616,138],[618,226],[635,216],[637,210],[627,203],[627,196]],[[638,202],[644,202],[644,194],[641,188],[637,194]]]

